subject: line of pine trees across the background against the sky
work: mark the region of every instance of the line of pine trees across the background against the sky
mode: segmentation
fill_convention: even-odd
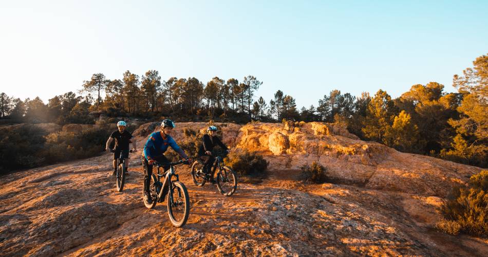
[[[178,121],[208,120],[246,123],[281,120],[323,121],[347,128],[361,139],[397,150],[486,167],[488,164],[488,56],[481,56],[455,75],[458,93],[446,93],[437,82],[417,84],[392,99],[382,89],[354,97],[332,90],[316,107],[297,109],[295,99],[277,90],[266,101],[255,96],[262,85],[254,76],[241,81],[214,77],[161,79],[157,70],[138,76],[126,71],[122,79],[93,74],[80,93],[21,100],[0,94],[0,118],[28,122],[93,123],[89,115],[172,117]]]

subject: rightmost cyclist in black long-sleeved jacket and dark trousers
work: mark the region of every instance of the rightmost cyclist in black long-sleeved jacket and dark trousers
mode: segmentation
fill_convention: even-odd
[[[215,145],[219,145],[223,150],[229,152],[229,148],[225,144],[220,141],[217,137],[217,127],[216,126],[209,126],[207,128],[208,134],[203,135],[202,144],[200,145],[200,149],[198,150],[198,157],[203,160],[203,171],[208,174],[210,172],[210,168],[215,161],[215,156],[212,156],[212,150],[214,149]],[[214,176],[212,174],[211,182],[215,184]]]

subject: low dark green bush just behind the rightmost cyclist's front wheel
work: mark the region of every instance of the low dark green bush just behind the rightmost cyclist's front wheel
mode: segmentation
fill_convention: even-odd
[[[231,153],[224,162],[239,175],[260,175],[266,173],[268,161],[256,152]]]

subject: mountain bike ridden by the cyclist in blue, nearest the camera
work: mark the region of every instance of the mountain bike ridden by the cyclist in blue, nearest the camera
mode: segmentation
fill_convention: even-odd
[[[185,225],[188,215],[190,214],[190,197],[185,185],[179,181],[178,174],[175,173],[175,166],[179,164],[189,164],[188,161],[180,160],[171,163],[154,163],[153,167],[158,168],[156,174],[151,175],[151,182],[149,183],[149,193],[151,194],[152,202],[148,203],[144,200],[144,193],[146,192],[146,183],[142,187],[142,199],[147,209],[153,209],[157,203],[162,203],[167,195],[167,209],[170,216],[171,223],[175,227]],[[170,169],[161,174],[160,170],[164,171],[163,166],[170,166]],[[144,172],[147,167],[144,165]],[[161,182],[161,177],[164,180]]]

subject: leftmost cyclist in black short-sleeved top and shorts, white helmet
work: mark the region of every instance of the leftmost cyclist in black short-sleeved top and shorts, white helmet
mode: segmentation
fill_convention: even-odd
[[[107,140],[107,144],[105,146],[105,151],[110,151],[110,144],[115,139],[115,150],[114,150],[114,172],[112,176],[115,176],[117,172],[117,159],[120,157],[120,153],[123,153],[125,163],[128,166],[129,164],[129,143],[132,143],[134,146],[133,151],[137,152],[136,148],[136,140],[132,140],[132,134],[125,130],[125,126],[127,123],[125,121],[119,121],[117,123],[118,130],[112,132],[110,137]]]

